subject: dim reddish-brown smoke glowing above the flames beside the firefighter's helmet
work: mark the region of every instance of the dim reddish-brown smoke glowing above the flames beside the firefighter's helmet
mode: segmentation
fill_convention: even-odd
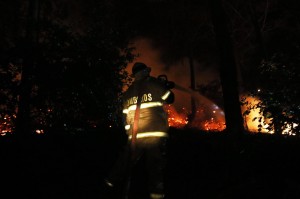
[[[191,109],[191,98],[196,96],[196,91],[192,91],[190,79],[190,66],[187,58],[182,58],[180,61],[166,65],[161,60],[162,51],[159,48],[154,48],[151,39],[136,38],[132,42],[132,47],[135,48],[134,54],[138,57],[127,66],[127,70],[131,73],[132,66],[135,62],[143,62],[151,67],[151,75],[157,77],[158,75],[165,74],[169,81],[173,81],[178,89],[173,89],[175,94],[174,106],[177,111],[181,111],[184,107],[188,110]],[[218,73],[214,67],[203,67],[201,63],[194,61],[195,70],[195,84],[201,85],[213,81],[218,78]],[[204,69],[205,68],[205,69]],[[179,89],[180,87],[180,89]],[[199,96],[199,93],[198,93]],[[204,98],[198,98],[200,101],[206,101]],[[212,103],[212,102],[210,102]]]

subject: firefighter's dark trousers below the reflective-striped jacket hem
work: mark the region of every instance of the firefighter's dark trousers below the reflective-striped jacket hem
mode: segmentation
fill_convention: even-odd
[[[144,156],[148,174],[149,193],[163,194],[166,142],[167,138],[165,137],[138,138],[135,143],[135,150],[132,150],[131,140],[128,140],[107,180],[112,184],[116,184],[129,177],[130,169]]]

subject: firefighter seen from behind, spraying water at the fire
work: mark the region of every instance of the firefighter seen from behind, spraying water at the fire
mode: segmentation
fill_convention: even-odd
[[[150,76],[150,72],[151,68],[141,62],[132,67],[134,81],[123,94],[128,144],[119,155],[105,183],[114,187],[126,175],[130,175],[132,166],[144,156],[150,198],[162,199],[165,194],[163,172],[169,130],[164,105],[174,102],[174,93],[171,90],[174,84],[165,81],[166,79]]]

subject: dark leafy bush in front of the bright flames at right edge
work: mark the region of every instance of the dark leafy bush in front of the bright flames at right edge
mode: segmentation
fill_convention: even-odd
[[[299,52],[299,51],[298,51]],[[276,134],[300,135],[300,105],[299,105],[299,54],[278,53],[260,65],[259,90],[251,95],[261,100],[252,104],[250,109],[258,108],[261,117],[255,119],[264,121],[268,131]],[[243,103],[248,103],[245,99]],[[248,114],[248,109],[244,114]],[[259,126],[261,131],[263,126]]]

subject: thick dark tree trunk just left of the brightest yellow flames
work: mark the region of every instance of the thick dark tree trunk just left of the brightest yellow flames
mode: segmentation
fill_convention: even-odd
[[[221,0],[210,0],[211,17],[220,56],[220,79],[222,84],[226,131],[241,135],[244,131],[243,118],[237,83],[237,69],[226,15]]]

